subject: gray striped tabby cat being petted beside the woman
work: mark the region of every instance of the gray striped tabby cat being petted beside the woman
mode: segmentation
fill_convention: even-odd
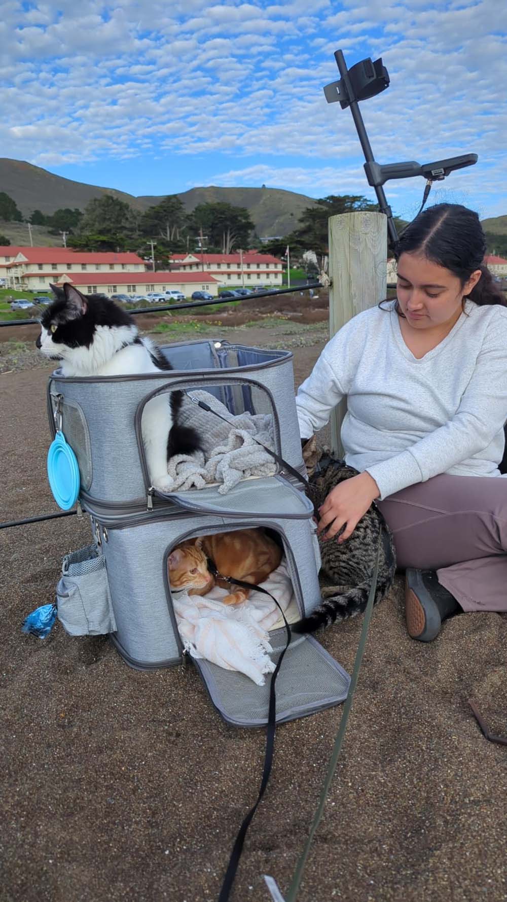
[[[357,470],[337,460],[327,448],[318,445],[315,436],[303,447],[309,473],[307,494],[314,508],[324,503],[328,493]],[[394,580],[396,559],[392,532],[375,504],[359,520],[350,538],[342,545],[336,540],[319,538],[322,568],[318,575],[322,602],[308,617],[291,625],[293,632],[314,632],[321,626],[364,612],[368,601],[373,567],[382,532],[381,557],[374,603],[388,594]]]

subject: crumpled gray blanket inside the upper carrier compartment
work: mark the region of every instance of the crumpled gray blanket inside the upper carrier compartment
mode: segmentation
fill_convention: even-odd
[[[168,474],[173,481],[171,492],[203,489],[210,483],[219,483],[218,492],[225,494],[242,479],[272,476],[276,472],[272,457],[253,440],[254,436],[273,450],[271,416],[241,413],[234,417],[208,391],[191,391],[190,394],[206,401],[227,422],[185,399],[180,422],[198,430],[204,451],[171,457],[168,465]]]

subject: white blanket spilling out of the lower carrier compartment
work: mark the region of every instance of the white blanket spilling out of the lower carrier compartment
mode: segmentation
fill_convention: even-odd
[[[285,560],[273,570],[263,589],[271,592],[288,620],[299,618],[292,584]],[[275,665],[269,657],[272,647],[268,630],[279,620],[280,612],[267,595],[253,592],[242,604],[222,604],[227,589],[217,586],[207,595],[173,594],[178,630],[184,648],[192,658],[207,658],[218,667],[238,670],[257,686],[264,685],[264,675]]]

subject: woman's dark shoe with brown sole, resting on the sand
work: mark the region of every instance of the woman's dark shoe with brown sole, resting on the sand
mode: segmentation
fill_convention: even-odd
[[[412,639],[436,639],[442,621],[458,611],[456,598],[439,584],[435,570],[409,567],[405,571],[405,616]]]

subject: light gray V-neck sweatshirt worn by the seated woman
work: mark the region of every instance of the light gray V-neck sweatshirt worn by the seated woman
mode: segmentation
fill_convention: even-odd
[[[448,336],[418,360],[394,302],[384,306],[352,318],[320,354],[296,398],[301,437],[346,397],[346,463],[373,476],[381,499],[441,473],[499,476],[507,308],[466,301]]]

